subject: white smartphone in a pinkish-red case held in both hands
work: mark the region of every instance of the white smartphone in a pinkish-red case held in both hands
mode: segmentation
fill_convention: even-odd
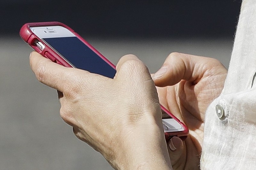
[[[116,67],[70,27],[60,22],[27,23],[21,38],[34,50],[55,63],[114,78]],[[185,139],[188,128],[161,105],[166,141],[173,136]]]

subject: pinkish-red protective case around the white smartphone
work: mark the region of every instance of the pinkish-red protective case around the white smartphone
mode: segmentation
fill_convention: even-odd
[[[104,57],[102,54],[100,54],[99,51],[97,51],[94,47],[92,47],[87,41],[85,41],[80,35],[78,35],[73,29],[70,27],[66,26],[65,24],[62,24],[60,22],[37,22],[37,23],[27,23],[23,25],[20,29],[20,36],[21,38],[28,43],[29,46],[31,46],[33,49],[36,50],[36,52],[40,53],[46,58],[49,58],[55,63],[58,63],[60,65],[63,65],[65,67],[72,67],[68,62],[66,62],[58,53],[56,53],[52,48],[50,48],[47,44],[45,44],[43,41],[40,41],[40,38],[38,38],[31,30],[29,27],[31,26],[63,26],[70,30],[72,33],[76,35],[76,37],[84,42],[89,48],[92,49],[93,52],[95,52],[97,55],[99,55],[105,62],[107,62],[111,67],[116,69],[116,66],[111,63],[106,57]],[[45,48],[43,50],[39,49],[35,44],[35,40],[38,40],[42,42],[45,45]],[[177,132],[165,132],[165,139],[166,141],[170,140],[171,137],[177,136],[180,137],[182,140],[185,140],[186,137],[188,136],[188,128],[187,126],[180,122],[178,118],[176,118],[174,115],[172,115],[171,112],[169,112],[166,108],[164,108],[161,105],[161,109],[170,115],[173,119],[175,119],[177,122],[181,124],[181,126],[184,128],[184,131],[177,131]]]

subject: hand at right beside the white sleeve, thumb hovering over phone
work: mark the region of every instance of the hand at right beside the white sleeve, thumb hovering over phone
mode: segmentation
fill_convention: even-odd
[[[205,111],[220,95],[226,75],[216,59],[180,53],[171,53],[152,75],[160,103],[189,129],[184,142],[173,137],[168,143],[173,169],[200,169]]]

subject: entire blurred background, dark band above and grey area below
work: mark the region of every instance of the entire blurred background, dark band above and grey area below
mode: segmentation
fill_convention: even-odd
[[[37,82],[27,22],[60,21],[113,63],[137,55],[153,73],[171,52],[219,59],[227,68],[240,1],[0,1],[0,169],[112,169],[59,116],[56,90]],[[148,139],[150,140],[150,139]]]

